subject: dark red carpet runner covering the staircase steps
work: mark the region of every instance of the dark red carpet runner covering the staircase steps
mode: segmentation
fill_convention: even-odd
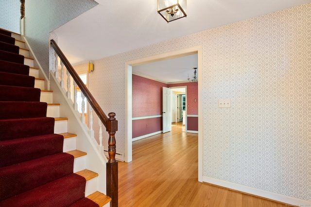
[[[0,30],[0,207],[98,207],[29,76],[10,32]]]

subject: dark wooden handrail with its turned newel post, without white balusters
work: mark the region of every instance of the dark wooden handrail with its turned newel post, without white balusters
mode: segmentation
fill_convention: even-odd
[[[68,59],[61,51],[61,49],[57,46],[54,40],[51,40],[51,46],[61,59],[62,63],[66,66],[73,80],[79,86],[81,92],[86,97],[87,101],[94,109],[104,126],[106,127],[106,131],[109,134],[108,140],[108,155],[109,160],[106,163],[106,193],[107,196],[111,198],[110,207],[118,207],[118,162],[115,159],[116,156],[116,139],[115,134],[118,130],[118,121],[116,120],[116,114],[110,112],[109,118],[106,116],[102,108],[99,106],[95,98],[87,89],[84,82],[80,79],[79,75],[76,73],[72,65],[69,63]]]

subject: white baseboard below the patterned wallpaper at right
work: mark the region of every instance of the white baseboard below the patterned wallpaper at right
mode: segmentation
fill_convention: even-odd
[[[275,192],[263,191],[256,188],[251,188],[248,186],[243,186],[236,183],[227,182],[224,180],[219,180],[212,177],[203,176],[203,182],[222,186],[225,188],[233,189],[236,191],[242,191],[248,194],[257,195],[260,197],[268,198],[274,201],[279,201],[282,203],[298,206],[298,207],[307,207],[311,205],[311,201],[305,201],[298,198],[290,197],[287,195],[277,194]]]

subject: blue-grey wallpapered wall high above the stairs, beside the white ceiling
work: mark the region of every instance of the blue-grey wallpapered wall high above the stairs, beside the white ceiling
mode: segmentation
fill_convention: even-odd
[[[25,36],[47,77],[49,77],[49,33],[97,4],[94,0],[25,1]]]

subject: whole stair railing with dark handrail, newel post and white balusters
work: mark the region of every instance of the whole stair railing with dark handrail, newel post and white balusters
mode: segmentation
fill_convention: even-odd
[[[118,162],[115,159],[116,156],[116,139],[115,139],[115,133],[118,130],[118,121],[115,118],[115,113],[110,112],[108,114],[109,118],[106,116],[102,108],[99,106],[95,98],[92,96],[92,94],[89,92],[89,90],[86,88],[86,85],[84,82],[80,79],[79,75],[76,73],[72,65],[69,63],[68,59],[64,55],[64,53],[61,51],[61,49],[57,46],[54,40],[51,40],[51,46],[55,51],[56,56],[56,62],[58,61],[58,58],[60,58],[60,65],[61,65],[61,74],[60,74],[60,85],[63,89],[65,89],[65,80],[64,80],[64,66],[67,69],[67,97],[71,98],[70,94],[70,76],[72,77],[73,86],[74,86],[74,100],[73,100],[73,107],[76,110],[77,109],[77,86],[80,88],[82,92],[82,116],[81,121],[85,123],[85,115],[84,115],[84,98],[86,97],[87,101],[89,102],[89,105],[91,106],[91,112],[90,112],[90,136],[93,136],[94,138],[94,130],[93,130],[93,113],[94,110],[96,114],[99,117],[99,126],[100,126],[100,132],[99,132],[99,141],[100,141],[100,147],[101,154],[104,155],[104,147],[103,147],[103,130],[102,125],[104,124],[104,127],[106,127],[106,131],[109,134],[108,139],[108,155],[109,159],[106,163],[106,193],[107,196],[109,196],[112,200],[110,202],[111,207],[118,207]],[[56,70],[55,70],[55,77],[58,78],[58,63],[55,63]]]

